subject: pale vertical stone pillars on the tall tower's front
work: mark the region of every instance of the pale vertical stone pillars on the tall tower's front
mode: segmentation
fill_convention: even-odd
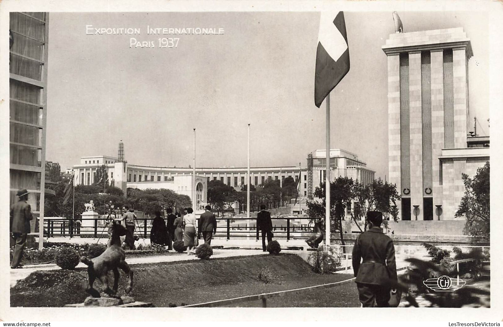
[[[410,197],[411,211],[413,205],[419,205],[420,213],[417,216],[418,220],[423,220],[423,198],[433,197],[434,208],[435,205],[442,205],[444,197],[452,198],[452,194],[446,195],[449,192],[443,189],[442,181],[442,166],[439,156],[442,154],[442,148],[445,148],[445,135],[446,122],[444,121],[444,106],[449,101],[452,101],[454,106],[454,147],[466,147],[467,135],[467,56],[464,47],[452,49],[452,87],[453,99],[444,99],[444,50],[435,49],[430,51],[430,69],[431,69],[431,160],[432,160],[432,186],[431,193],[429,182],[424,180],[424,167],[423,167],[423,133],[425,126],[423,124],[423,108],[425,106],[425,99],[422,98],[422,51],[408,52],[408,90],[400,90],[400,54],[388,54],[388,151],[389,151],[389,178],[391,183],[395,183],[397,190],[401,196],[406,198]],[[403,54],[402,54],[403,55]],[[402,67],[403,69],[404,67]],[[403,72],[402,72],[403,78]],[[425,81],[423,80],[423,84]],[[403,83],[402,83],[403,87]],[[423,88],[425,86],[423,85]],[[423,89],[424,90],[424,89]],[[428,90],[430,91],[430,90]],[[408,93],[408,108],[400,106],[400,93]],[[407,144],[404,137],[403,125],[400,125],[400,110],[408,110],[408,146],[409,146],[409,167],[403,165],[404,148]],[[403,113],[402,113],[403,116]],[[452,123],[452,122],[449,122]],[[452,127],[451,127],[452,128]],[[429,131],[429,130],[428,130]],[[407,132],[407,131],[406,131]],[[405,136],[406,138],[406,136]],[[426,156],[425,156],[426,159]],[[453,164],[454,165],[454,164]],[[410,169],[410,179],[406,178],[404,169]],[[460,168],[456,169],[459,171]],[[455,171],[453,169],[452,171]],[[405,176],[402,176],[405,173]],[[461,175],[460,175],[461,176]],[[461,178],[454,178],[455,183],[460,183]],[[405,180],[403,180],[405,177]],[[454,176],[452,176],[454,177]],[[444,180],[446,180],[444,176]],[[458,181],[459,180],[459,181]],[[408,183],[407,183],[408,182]],[[409,185],[406,185],[409,184]],[[456,186],[456,188],[458,188]],[[404,190],[405,189],[405,190]],[[408,193],[408,194],[406,194]],[[398,204],[399,205],[399,204]],[[401,212],[401,208],[399,208]],[[414,215],[411,212],[411,216]],[[444,210],[443,216],[447,219],[453,219],[454,213]],[[451,217],[452,216],[452,217]],[[414,218],[412,218],[414,219]]]

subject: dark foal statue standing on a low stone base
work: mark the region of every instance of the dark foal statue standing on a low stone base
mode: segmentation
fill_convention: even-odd
[[[117,294],[119,283],[119,268],[128,276],[128,283],[125,287],[126,294],[131,292],[133,288],[133,271],[126,263],[126,254],[121,247],[120,236],[126,234],[126,227],[122,226],[115,219],[108,223],[108,243],[107,249],[99,257],[88,259],[87,257],[80,257],[80,261],[88,265],[89,284],[86,292],[92,297],[100,297],[100,292],[93,288],[96,278],[103,283],[102,291],[111,297]],[[108,286],[108,272],[112,270],[114,273],[114,286]]]

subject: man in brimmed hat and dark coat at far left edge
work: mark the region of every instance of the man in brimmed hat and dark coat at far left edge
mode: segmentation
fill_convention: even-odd
[[[11,264],[12,269],[20,267],[26,242],[26,234],[31,231],[30,220],[33,219],[31,207],[26,203],[28,200],[28,191],[26,189],[21,189],[18,191],[17,195],[19,201],[11,207],[11,231],[12,237],[16,240]]]

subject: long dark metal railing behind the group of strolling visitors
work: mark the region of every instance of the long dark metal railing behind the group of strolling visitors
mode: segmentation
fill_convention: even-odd
[[[199,219],[199,218],[198,218]],[[217,232],[213,237],[232,238],[256,238],[260,239],[260,231],[257,229],[257,218],[216,218],[217,221],[225,221],[225,224],[217,225]],[[293,220],[298,217],[271,218],[275,238],[306,239],[312,235],[313,226],[309,224],[298,224]],[[152,218],[135,219],[135,235],[147,238],[152,229]],[[164,219],[165,220],[165,219]],[[286,220],[286,225],[279,224]],[[275,223],[276,222],[276,223]],[[102,237],[107,235],[106,216],[99,218],[81,218],[79,220],[70,219],[45,219],[44,235],[46,237],[60,236],[80,236],[80,237]]]

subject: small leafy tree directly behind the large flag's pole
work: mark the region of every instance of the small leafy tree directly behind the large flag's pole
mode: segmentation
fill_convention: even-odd
[[[355,183],[348,177],[338,177],[330,183],[330,229],[338,229],[341,244],[345,245],[342,220],[346,205],[355,196]],[[326,208],[325,183],[320,184],[314,191],[314,196],[321,201],[308,201],[307,214],[310,217],[324,218]],[[327,235],[329,237],[329,235]]]

